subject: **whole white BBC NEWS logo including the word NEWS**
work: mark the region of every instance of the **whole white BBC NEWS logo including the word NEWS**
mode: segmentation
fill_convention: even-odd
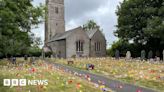
[[[48,80],[3,79],[4,86],[48,85]]]

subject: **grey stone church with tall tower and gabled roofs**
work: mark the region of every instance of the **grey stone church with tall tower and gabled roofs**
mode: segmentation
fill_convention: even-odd
[[[99,30],[65,31],[64,0],[46,0],[45,46],[54,57],[105,57],[106,39]]]

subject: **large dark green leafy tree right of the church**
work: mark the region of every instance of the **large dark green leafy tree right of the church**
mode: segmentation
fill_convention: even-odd
[[[124,0],[118,6],[118,25],[115,35],[135,43],[164,43],[164,1]]]

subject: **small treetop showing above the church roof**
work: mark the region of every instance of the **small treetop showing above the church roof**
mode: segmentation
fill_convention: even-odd
[[[89,31],[89,30],[93,30],[93,29],[98,29],[99,31],[101,30],[100,26],[98,26],[94,20],[89,20],[86,24],[84,24],[83,29],[85,31]]]

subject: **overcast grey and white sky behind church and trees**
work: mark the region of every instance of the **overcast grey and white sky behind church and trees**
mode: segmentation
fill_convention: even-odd
[[[108,47],[117,38],[113,35],[116,30],[117,16],[115,11],[123,0],[65,0],[66,30],[78,27],[93,19],[103,29]],[[34,5],[45,3],[45,0],[34,0]],[[44,41],[44,24],[33,29],[37,36]]]

